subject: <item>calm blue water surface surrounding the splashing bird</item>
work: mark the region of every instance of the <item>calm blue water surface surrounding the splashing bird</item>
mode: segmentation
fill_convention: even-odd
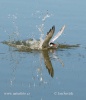
[[[0,42],[39,39],[41,25],[46,35],[53,25],[57,33],[65,24],[56,42],[80,44],[49,52],[46,58],[41,51],[19,52],[0,43],[0,100],[86,99],[85,4],[85,0],[0,1]],[[53,75],[45,59],[50,61]]]

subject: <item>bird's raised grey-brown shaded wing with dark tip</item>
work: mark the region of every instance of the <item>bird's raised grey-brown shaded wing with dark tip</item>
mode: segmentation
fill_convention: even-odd
[[[49,44],[49,41],[50,39],[52,38],[53,34],[54,34],[54,31],[55,31],[55,26],[52,27],[52,29],[49,30],[49,32],[47,33],[47,36],[42,44],[42,48],[47,48],[48,47],[48,44]]]

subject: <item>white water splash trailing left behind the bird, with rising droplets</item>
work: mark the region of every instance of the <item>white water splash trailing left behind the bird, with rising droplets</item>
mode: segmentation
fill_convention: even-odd
[[[40,14],[41,12],[37,12],[37,14]],[[40,15],[39,15],[40,16]],[[39,16],[37,18],[39,18]],[[4,44],[7,44],[9,46],[13,46],[16,47],[18,49],[21,50],[27,50],[27,49],[37,49],[40,50],[42,49],[42,44],[44,42],[44,26],[45,26],[45,21],[47,18],[49,18],[51,15],[48,14],[48,12],[45,14],[45,16],[42,15],[41,18],[41,24],[40,25],[36,25],[39,33],[40,33],[40,37],[39,40],[36,39],[27,39],[27,40],[19,40],[18,36],[19,36],[19,30],[18,30],[18,26],[16,24],[17,22],[17,15],[8,15],[8,18],[12,20],[13,23],[13,27],[14,27],[14,32],[9,34],[9,41],[8,42],[3,42]],[[17,41],[18,40],[18,41]]]

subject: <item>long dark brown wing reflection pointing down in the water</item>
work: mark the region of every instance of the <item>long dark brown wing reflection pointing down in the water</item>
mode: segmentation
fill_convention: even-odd
[[[51,77],[54,76],[54,70],[53,70],[53,66],[48,54],[48,50],[42,51],[43,57],[44,57],[44,63],[46,65],[46,68],[48,69],[49,74],[51,75]]]

